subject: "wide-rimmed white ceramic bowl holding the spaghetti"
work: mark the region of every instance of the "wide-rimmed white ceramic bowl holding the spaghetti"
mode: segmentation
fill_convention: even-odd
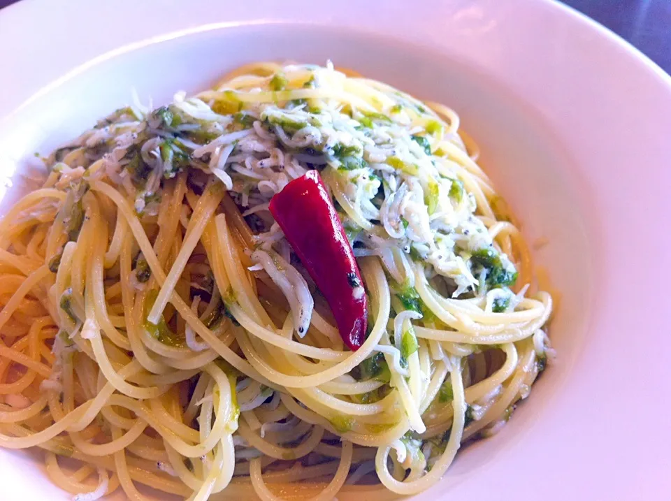
[[[468,446],[422,499],[668,499],[671,79],[549,1],[339,3],[0,11],[2,210],[30,186],[34,152],[131,88],[162,103],[246,62],[332,59],[447,103],[528,241],[549,242],[534,255],[558,292],[558,361],[503,432]],[[67,499],[35,457],[0,449],[1,497]]]

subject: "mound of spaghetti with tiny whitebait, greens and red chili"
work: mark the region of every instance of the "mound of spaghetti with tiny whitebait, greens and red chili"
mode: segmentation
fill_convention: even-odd
[[[77,500],[419,493],[553,354],[440,104],[252,64],[44,161],[0,222],[0,446],[44,449]]]

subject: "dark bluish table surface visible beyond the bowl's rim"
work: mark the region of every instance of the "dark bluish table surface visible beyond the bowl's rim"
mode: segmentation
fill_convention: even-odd
[[[0,0],[0,8],[16,0]],[[31,1],[31,0],[24,0]],[[671,0],[563,0],[671,73]]]

